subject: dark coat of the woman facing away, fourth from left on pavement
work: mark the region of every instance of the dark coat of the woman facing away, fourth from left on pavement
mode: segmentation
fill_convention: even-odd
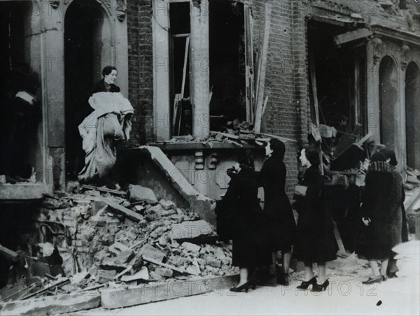
[[[399,217],[397,213],[401,213],[398,208],[402,200],[401,194],[398,193],[401,192],[401,183],[393,186],[393,182],[394,176],[386,162],[377,161],[370,164],[361,210],[363,217],[369,217],[370,224],[361,226],[356,247],[359,257],[388,259],[392,255],[393,239],[401,240],[401,235],[398,237],[393,232],[392,224],[393,219]],[[399,222],[401,225],[400,220]]]

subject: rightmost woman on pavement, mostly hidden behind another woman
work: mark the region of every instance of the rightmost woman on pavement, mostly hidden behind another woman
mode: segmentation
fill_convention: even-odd
[[[386,161],[391,167],[393,175],[393,185],[391,192],[391,203],[393,203],[393,213],[391,215],[391,247],[408,241],[407,217],[405,215],[404,199],[405,192],[402,186],[401,173],[397,171],[397,158],[395,152],[391,149],[384,148],[381,152],[385,155]],[[395,253],[388,261],[388,268],[386,271],[387,278],[395,278],[398,272],[397,261],[393,259]],[[386,279],[382,275],[383,279]]]

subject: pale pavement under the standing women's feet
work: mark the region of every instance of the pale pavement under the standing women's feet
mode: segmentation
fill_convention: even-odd
[[[363,285],[370,276],[366,264],[327,269],[330,286],[321,293],[289,287],[257,287],[248,293],[228,289],[197,296],[106,310],[97,308],[73,315],[420,315],[420,258],[398,261],[398,278]],[[334,262],[334,261],[333,261]],[[339,266],[339,268],[337,268]],[[302,273],[295,273],[302,277]]]

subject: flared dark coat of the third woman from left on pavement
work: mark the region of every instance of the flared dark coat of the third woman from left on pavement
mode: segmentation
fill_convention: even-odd
[[[318,166],[307,169],[300,185],[306,186],[307,192],[295,203],[299,219],[293,255],[304,262],[335,260],[338,247],[332,216],[325,207],[324,180]]]

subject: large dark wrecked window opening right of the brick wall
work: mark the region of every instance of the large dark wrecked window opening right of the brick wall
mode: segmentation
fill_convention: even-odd
[[[340,46],[334,41],[335,36],[348,31],[352,30],[323,22],[308,22],[311,104],[314,105],[316,96],[321,136],[324,141],[328,138],[324,150],[331,157],[339,155],[336,150],[343,147],[339,146],[342,136],[349,137],[349,142],[353,143],[367,132],[364,40]],[[312,82],[316,82],[316,87]],[[314,108],[311,113],[312,121],[316,122]]]

